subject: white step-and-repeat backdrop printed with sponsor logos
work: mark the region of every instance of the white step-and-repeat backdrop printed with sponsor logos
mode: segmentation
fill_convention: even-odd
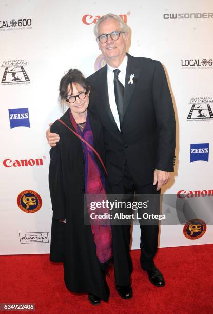
[[[78,68],[88,76],[105,65],[93,28],[106,13],[129,25],[131,55],[162,62],[175,107],[175,173],[162,190],[173,197],[163,202],[162,212],[175,214],[178,222],[161,225],[159,247],[213,243],[212,1],[5,0],[0,2],[1,254],[49,252],[45,131],[63,114],[58,96],[66,71]],[[134,225],[132,249],[139,248],[139,240]]]

